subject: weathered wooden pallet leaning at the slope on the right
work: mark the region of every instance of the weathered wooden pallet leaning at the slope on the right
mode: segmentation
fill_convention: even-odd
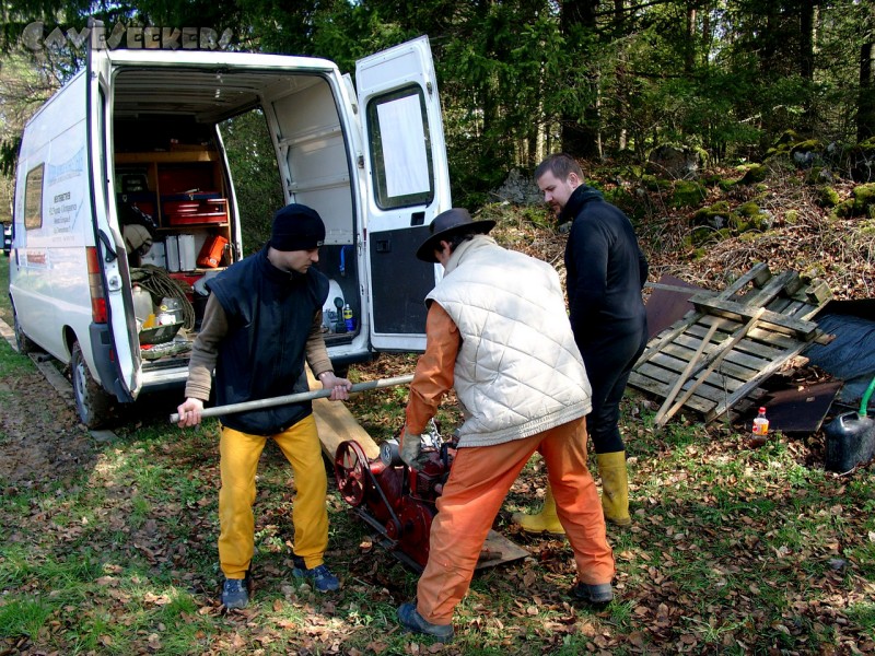
[[[705,422],[732,417],[767,377],[824,339],[810,319],[831,296],[822,281],[757,265],[720,293],[692,296],[695,309],[650,341],[629,385],[663,399],[657,426],[681,408]]]

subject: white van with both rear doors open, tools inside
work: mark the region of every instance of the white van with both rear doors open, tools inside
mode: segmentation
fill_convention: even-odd
[[[415,251],[451,207],[428,38],[359,61],[355,81],[358,93],[315,58],[93,49],[31,119],[10,254],[15,335],[23,352],[69,363],[85,425],[105,423],[115,401],[185,383],[202,281],[243,257],[221,126],[248,112],[264,116],[284,202],[326,223],[318,268],[331,281],[326,309],[338,312],[325,326],[336,368],[424,349],[423,298],[441,272]],[[126,257],[132,207],[154,224],[142,261]],[[183,298],[164,331],[184,323],[172,341],[135,316],[139,280],[155,313]]]

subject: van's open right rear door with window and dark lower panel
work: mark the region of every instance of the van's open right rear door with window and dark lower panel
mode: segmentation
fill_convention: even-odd
[[[441,103],[429,39],[355,65],[368,174],[371,344],[425,349],[424,298],[439,265],[416,258],[432,219],[451,208]]]

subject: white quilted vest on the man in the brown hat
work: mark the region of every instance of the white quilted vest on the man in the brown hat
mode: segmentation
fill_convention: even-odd
[[[459,446],[521,440],[583,417],[590,382],[553,268],[477,235],[428,295],[458,326]]]

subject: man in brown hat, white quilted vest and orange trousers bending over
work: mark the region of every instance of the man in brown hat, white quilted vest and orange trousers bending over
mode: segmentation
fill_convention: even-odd
[[[445,642],[492,522],[529,457],[539,452],[568,532],[587,604],[610,601],[614,555],[586,468],[590,383],[568,323],[559,277],[547,262],[499,246],[493,221],[443,212],[417,257],[444,278],[427,296],[425,352],[417,362],[401,458],[418,466],[420,435],[455,388],[465,422],[431,527],[416,604],[398,608],[409,631]]]

